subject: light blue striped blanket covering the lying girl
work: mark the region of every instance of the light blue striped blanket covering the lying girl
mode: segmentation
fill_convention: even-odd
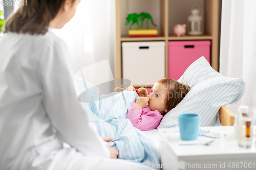
[[[151,167],[159,164],[153,141],[142,131],[134,128],[130,120],[125,118],[127,109],[138,96],[136,92],[123,91],[99,95],[99,90],[91,83],[86,82],[85,88],[85,82],[79,77],[74,76],[74,81],[78,94],[81,94],[79,100],[83,101],[100,136],[116,137],[110,142],[110,147],[119,151],[119,159],[141,162]]]

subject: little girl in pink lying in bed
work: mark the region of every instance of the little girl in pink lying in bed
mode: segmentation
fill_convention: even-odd
[[[133,103],[126,118],[142,131],[156,129],[163,116],[181,102],[189,89],[189,86],[173,79],[158,80],[148,98],[139,97]],[[130,86],[126,90],[135,91],[135,88]]]

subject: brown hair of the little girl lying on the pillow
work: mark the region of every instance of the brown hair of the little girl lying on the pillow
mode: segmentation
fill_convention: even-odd
[[[157,82],[162,84],[163,88],[166,89],[165,108],[167,108],[167,112],[175,108],[190,90],[189,86],[173,79],[164,78]],[[161,114],[165,115],[167,112]]]

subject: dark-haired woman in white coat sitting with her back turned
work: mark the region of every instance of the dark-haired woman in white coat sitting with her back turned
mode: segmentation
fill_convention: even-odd
[[[147,169],[117,158],[78,102],[62,28],[80,0],[28,0],[0,38],[0,169]],[[111,138],[104,138],[105,141]],[[63,142],[71,145],[63,148]]]

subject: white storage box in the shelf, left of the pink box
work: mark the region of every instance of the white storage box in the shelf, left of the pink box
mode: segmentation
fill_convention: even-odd
[[[150,86],[165,78],[165,42],[122,42],[122,78]]]

